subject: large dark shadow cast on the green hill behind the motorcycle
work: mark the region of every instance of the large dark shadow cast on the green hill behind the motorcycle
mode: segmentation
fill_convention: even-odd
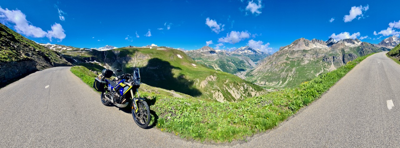
[[[140,68],[140,77],[142,82],[149,86],[174,90],[193,97],[202,95],[200,90],[193,87],[194,82],[186,79],[184,74],[175,78],[172,73],[174,69],[182,70],[179,67],[172,66],[167,61],[152,58],[146,66]]]

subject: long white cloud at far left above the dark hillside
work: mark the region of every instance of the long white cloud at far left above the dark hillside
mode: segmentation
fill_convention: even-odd
[[[51,26],[51,30],[43,31],[40,27],[31,25],[28,20],[26,20],[25,14],[20,10],[4,10],[0,7],[0,22],[1,23],[13,23],[15,24],[14,29],[21,34],[30,37],[48,37],[50,41],[52,38],[64,39],[66,37],[64,29],[59,23],[54,23]]]

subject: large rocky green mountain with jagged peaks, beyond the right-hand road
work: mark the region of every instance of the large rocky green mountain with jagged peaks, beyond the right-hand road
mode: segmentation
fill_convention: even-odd
[[[242,76],[250,82],[267,88],[294,87],[343,66],[369,53],[389,51],[386,47],[358,39],[297,39],[290,45],[266,57]]]

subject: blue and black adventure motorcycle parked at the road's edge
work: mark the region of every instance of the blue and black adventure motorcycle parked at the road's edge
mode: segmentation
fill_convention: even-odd
[[[122,70],[117,69],[117,72]],[[140,87],[139,68],[135,68],[132,74],[122,74],[114,79],[110,79],[114,72],[104,69],[94,80],[93,88],[101,93],[103,105],[115,105],[120,108],[127,107],[131,103],[132,117],[135,123],[146,128],[150,123],[150,108],[145,99],[140,97],[138,88]]]

